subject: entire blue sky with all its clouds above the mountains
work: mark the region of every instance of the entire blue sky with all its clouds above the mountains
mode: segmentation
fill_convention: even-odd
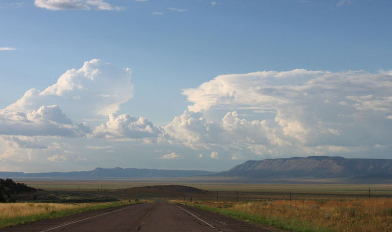
[[[392,158],[391,0],[1,0],[0,171]]]

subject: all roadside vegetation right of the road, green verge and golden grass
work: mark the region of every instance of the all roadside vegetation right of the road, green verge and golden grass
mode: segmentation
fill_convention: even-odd
[[[390,232],[392,200],[198,201],[194,207],[296,232]]]

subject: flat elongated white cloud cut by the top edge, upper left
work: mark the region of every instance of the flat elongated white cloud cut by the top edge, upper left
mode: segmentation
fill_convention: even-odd
[[[37,7],[48,10],[123,10],[122,6],[112,6],[105,0],[35,0]]]

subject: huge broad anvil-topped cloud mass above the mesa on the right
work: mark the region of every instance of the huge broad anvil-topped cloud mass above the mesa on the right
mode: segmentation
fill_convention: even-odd
[[[192,105],[165,130],[172,142],[194,149],[298,155],[392,144],[390,72],[230,74],[183,94]]]

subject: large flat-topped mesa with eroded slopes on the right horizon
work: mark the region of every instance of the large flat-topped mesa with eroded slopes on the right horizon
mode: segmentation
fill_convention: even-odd
[[[218,173],[220,176],[248,178],[392,178],[391,159],[346,159],[335,156],[293,157],[246,161]]]

